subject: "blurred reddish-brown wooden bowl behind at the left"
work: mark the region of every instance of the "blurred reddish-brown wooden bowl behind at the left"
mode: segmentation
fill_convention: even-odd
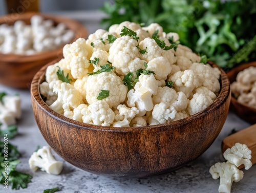
[[[87,38],[88,32],[81,24],[73,19],[40,13],[10,14],[0,17],[0,25],[13,25],[16,20],[23,20],[30,24],[33,15],[41,15],[45,19],[52,19],[55,24],[64,23],[68,29],[75,32],[71,42],[79,37]],[[30,88],[33,76],[47,63],[62,57],[62,48],[43,52],[31,56],[0,53],[0,83],[17,89]]]

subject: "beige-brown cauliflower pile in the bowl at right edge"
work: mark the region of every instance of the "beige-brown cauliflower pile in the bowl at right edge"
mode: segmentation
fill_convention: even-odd
[[[249,67],[238,73],[232,82],[231,91],[239,102],[256,109],[256,67]]]

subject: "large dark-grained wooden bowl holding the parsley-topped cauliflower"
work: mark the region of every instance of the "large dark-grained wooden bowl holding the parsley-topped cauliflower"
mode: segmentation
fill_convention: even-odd
[[[40,69],[32,80],[32,107],[39,130],[59,156],[95,174],[142,178],[178,169],[206,151],[228,114],[230,84],[221,70],[217,99],[204,111],[185,119],[143,127],[78,122],[50,109],[40,96],[39,84],[53,63]]]

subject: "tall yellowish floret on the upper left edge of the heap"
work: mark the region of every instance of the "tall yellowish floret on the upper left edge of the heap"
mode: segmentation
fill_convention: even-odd
[[[70,63],[71,75],[74,78],[82,78],[89,72],[88,68],[90,66],[87,58],[86,40],[79,38],[71,46],[66,47],[66,50],[68,57],[65,59]]]

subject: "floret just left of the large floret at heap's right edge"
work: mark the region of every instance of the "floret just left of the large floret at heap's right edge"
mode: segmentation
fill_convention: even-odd
[[[198,75],[195,74],[193,70],[176,72],[172,77],[169,78],[169,81],[174,83],[174,87],[177,91],[185,93],[187,98],[199,85]]]

